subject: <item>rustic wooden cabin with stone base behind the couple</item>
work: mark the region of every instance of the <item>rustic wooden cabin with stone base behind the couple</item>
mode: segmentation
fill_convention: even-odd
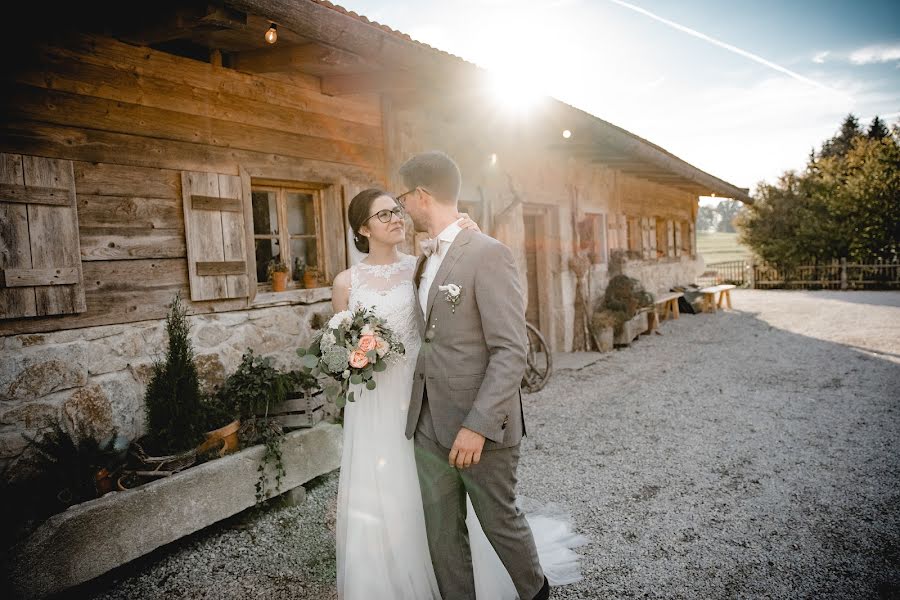
[[[651,290],[687,283],[698,196],[747,199],[562,102],[510,115],[474,65],[328,2],[19,4],[0,41],[5,466],[53,421],[142,433],[176,293],[207,385],[248,347],[289,363],[348,266],[347,203],[403,191],[415,152],[458,161],[463,208],[516,253],[556,350],[575,344],[573,257],[590,301],[614,250]]]

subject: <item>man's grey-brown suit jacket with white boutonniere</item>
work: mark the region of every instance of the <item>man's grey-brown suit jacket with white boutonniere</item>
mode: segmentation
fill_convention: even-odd
[[[414,283],[425,257],[419,257]],[[454,307],[438,286],[462,288]],[[406,423],[412,438],[427,388],[433,430],[450,448],[461,427],[482,434],[485,450],[518,444],[525,434],[519,386],[525,373],[525,297],[509,248],[463,230],[447,250],[419,315],[422,349]]]

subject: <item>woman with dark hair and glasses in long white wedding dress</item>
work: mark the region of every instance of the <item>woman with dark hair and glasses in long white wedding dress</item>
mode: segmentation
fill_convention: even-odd
[[[425,533],[412,440],[404,435],[412,375],[421,341],[414,295],[416,258],[397,250],[406,237],[404,212],[386,192],[360,192],[348,210],[363,260],[334,280],[335,312],[364,306],[385,319],[406,355],[376,373],[377,387],[355,386],[344,408],[344,444],[337,505],[337,587],[343,600],[440,600]],[[464,228],[477,228],[467,217]],[[351,386],[354,387],[354,386]],[[481,530],[471,504],[466,526],[479,599],[514,600],[515,587]],[[529,525],[551,585],[581,578],[572,547],[583,543],[561,519],[531,512]],[[450,600],[450,599],[448,599]]]

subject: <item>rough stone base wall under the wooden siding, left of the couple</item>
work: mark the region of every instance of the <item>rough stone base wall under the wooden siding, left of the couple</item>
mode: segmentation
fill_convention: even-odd
[[[330,302],[189,317],[201,382],[212,390],[252,348],[296,368],[296,349],[331,315]],[[144,321],[0,338],[0,472],[28,472],[25,435],[58,422],[79,439],[135,439],[144,391],[166,348],[165,322]]]

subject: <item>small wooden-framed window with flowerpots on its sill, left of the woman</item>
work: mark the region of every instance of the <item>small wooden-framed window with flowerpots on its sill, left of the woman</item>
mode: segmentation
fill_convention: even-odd
[[[315,187],[253,186],[256,280],[268,285],[270,261],[288,267],[289,287],[317,287],[322,272],[321,198]]]

